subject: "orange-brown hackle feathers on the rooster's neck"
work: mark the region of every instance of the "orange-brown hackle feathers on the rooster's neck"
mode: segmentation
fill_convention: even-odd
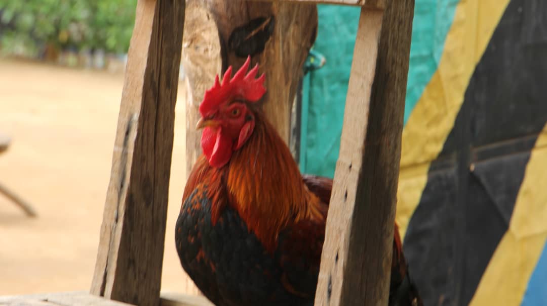
[[[324,215],[318,208],[320,200],[302,181],[298,165],[274,127],[259,112],[255,120],[253,135],[226,166],[214,169],[200,158],[202,166],[196,165],[191,177],[194,172],[203,173],[200,176],[210,177],[208,185],[214,185],[207,188],[213,223],[228,205],[236,209],[265,249],[273,252],[282,229]]]

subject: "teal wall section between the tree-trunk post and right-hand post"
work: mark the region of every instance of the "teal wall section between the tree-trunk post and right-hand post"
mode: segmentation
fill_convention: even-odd
[[[307,146],[301,170],[306,173],[333,177],[340,148],[342,120],[346,101],[347,83],[353,46],[357,36],[359,8],[337,5],[318,5],[319,28],[313,49],[327,62],[311,71],[302,90],[309,92],[307,126],[302,126],[301,137]],[[309,81],[309,87],[306,82]],[[306,103],[306,95],[302,103]],[[302,107],[305,110],[306,107]],[[303,115],[303,117],[305,114]],[[305,123],[303,120],[302,123]]]

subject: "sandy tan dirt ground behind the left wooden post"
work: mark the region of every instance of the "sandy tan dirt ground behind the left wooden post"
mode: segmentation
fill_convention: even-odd
[[[191,288],[173,242],[185,181],[179,86],[162,290]],[[89,290],[110,176],[123,74],[0,59],[0,182],[31,202],[26,217],[0,195],[0,295]]]

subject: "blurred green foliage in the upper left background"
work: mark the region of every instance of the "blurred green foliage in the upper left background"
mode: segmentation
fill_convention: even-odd
[[[56,49],[124,53],[137,0],[0,0],[0,47],[38,55]]]

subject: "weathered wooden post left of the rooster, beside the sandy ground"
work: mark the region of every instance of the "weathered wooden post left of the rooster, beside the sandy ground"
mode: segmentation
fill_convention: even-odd
[[[159,305],[184,1],[138,0],[91,293]]]

